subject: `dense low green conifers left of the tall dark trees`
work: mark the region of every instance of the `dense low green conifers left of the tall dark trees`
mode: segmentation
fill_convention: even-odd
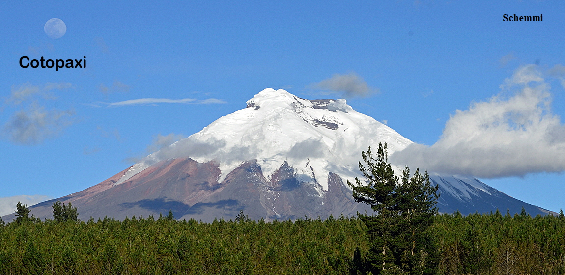
[[[367,250],[356,218],[237,220],[14,221],[0,226],[0,274],[347,274]]]

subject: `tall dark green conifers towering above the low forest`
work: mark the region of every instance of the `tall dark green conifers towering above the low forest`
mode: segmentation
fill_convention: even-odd
[[[387,159],[386,143],[379,143],[376,156],[371,147],[362,152],[359,170],[366,178],[355,178],[353,189],[357,202],[366,203],[375,213],[359,215],[365,222],[370,237],[370,250],[364,261],[357,261],[355,272],[373,274],[433,274],[438,255],[429,235],[433,217],[437,213],[436,193],[428,173],[419,170],[410,176],[408,167],[402,173],[402,182],[394,175]]]

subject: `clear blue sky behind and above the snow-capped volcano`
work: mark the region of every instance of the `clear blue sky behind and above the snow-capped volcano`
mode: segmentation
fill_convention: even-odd
[[[503,14],[543,14],[544,21],[503,21]],[[0,206],[95,185],[145,156],[159,135],[189,136],[265,88],[308,99],[345,96],[355,110],[432,146],[457,110],[495,95],[511,102],[524,87],[504,85],[529,68],[549,93],[541,112],[562,129],[563,14],[559,1],[3,3]],[[47,37],[51,18],[66,24],[63,37]],[[86,56],[87,67],[24,69],[21,56]],[[316,85],[340,75],[373,93],[354,97]],[[147,98],[184,101],[132,101]],[[532,136],[545,137],[544,129]],[[562,130],[555,135],[565,138]],[[559,211],[563,165],[475,176]]]

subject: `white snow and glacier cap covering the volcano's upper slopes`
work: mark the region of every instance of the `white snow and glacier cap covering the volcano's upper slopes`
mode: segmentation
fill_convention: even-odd
[[[345,99],[302,99],[279,89],[264,89],[246,108],[220,117],[200,132],[146,156],[114,185],[119,185],[161,160],[191,158],[216,161],[218,181],[246,160],[257,160],[270,178],[286,161],[301,182],[328,190],[329,172],[346,180],[359,176],[361,151],[388,144],[389,154],[412,142]]]

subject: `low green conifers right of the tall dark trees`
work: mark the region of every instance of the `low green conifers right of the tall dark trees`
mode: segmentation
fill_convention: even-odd
[[[437,215],[431,228],[440,274],[565,274],[565,217],[531,217],[524,208]]]

